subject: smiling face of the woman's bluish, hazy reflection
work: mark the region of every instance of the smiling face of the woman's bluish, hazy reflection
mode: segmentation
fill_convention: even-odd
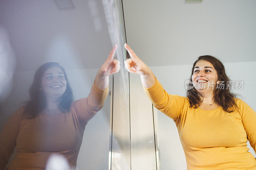
[[[46,98],[58,99],[66,91],[67,81],[60,67],[47,69],[41,79],[41,87]]]

